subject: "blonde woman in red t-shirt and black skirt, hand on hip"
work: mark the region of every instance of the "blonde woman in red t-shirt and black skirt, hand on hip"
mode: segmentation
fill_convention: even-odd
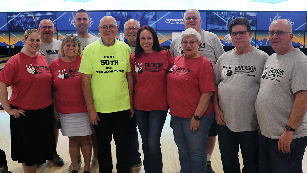
[[[37,163],[53,160],[56,153],[52,75],[46,58],[37,53],[39,31],[26,30],[23,43],[25,51],[11,57],[0,72],[0,102],[11,115],[11,158],[22,163],[24,172],[35,173]],[[10,99],[8,86],[12,89]]]

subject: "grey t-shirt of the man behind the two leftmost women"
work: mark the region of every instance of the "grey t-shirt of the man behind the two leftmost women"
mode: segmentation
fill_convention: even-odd
[[[41,41],[41,48],[37,51],[37,53],[45,55],[48,64],[50,65],[51,61],[57,58],[57,54],[60,52],[62,41],[56,40],[53,38],[51,43],[44,43]],[[21,52],[25,51],[25,46],[21,49]]]

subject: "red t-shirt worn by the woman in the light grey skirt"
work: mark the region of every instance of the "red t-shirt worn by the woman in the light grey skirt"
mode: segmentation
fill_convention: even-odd
[[[82,73],[79,72],[80,62],[80,56],[72,62],[65,62],[59,57],[50,64],[56,110],[60,113],[87,112],[82,92]]]

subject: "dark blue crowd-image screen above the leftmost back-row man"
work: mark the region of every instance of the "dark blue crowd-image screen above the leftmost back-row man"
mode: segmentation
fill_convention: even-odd
[[[39,23],[43,19],[50,19],[56,25],[56,14],[51,12],[7,13],[7,28],[9,31],[38,29]]]

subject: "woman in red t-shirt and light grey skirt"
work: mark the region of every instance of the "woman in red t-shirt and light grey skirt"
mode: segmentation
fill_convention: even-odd
[[[87,115],[87,108],[82,92],[81,73],[79,72],[82,58],[81,43],[77,34],[69,34],[62,40],[59,57],[50,64],[52,86],[54,88],[54,114],[61,121],[63,136],[69,139],[69,155],[72,161],[71,173],[77,173],[81,165],[78,159],[81,151],[84,157],[84,173],[89,173],[92,144],[91,134],[94,128]]]

